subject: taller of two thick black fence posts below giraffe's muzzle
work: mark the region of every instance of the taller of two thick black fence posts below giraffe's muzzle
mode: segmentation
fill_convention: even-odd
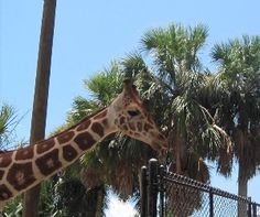
[[[158,160],[149,161],[149,181],[148,181],[148,215],[156,217],[158,213]]]

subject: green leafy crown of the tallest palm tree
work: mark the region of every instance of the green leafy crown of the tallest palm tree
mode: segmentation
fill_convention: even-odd
[[[198,70],[202,64],[197,52],[207,37],[207,28],[196,25],[185,28],[170,24],[169,28],[153,29],[142,37],[143,50],[152,53],[153,63],[167,82],[175,82],[178,70]]]

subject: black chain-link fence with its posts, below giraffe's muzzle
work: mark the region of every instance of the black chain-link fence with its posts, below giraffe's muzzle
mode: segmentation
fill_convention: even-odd
[[[260,204],[166,172],[155,159],[141,169],[141,217],[260,217]]]

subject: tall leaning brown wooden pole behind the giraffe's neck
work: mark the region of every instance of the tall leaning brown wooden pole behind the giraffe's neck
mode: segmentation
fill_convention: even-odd
[[[36,141],[43,140],[45,137],[55,8],[56,0],[44,0],[30,144],[34,144]],[[40,186],[35,186],[25,193],[23,217],[37,216],[39,200]]]

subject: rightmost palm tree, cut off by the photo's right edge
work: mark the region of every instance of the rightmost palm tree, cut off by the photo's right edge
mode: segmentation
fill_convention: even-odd
[[[213,58],[219,63],[218,77],[227,102],[219,109],[219,119],[235,143],[238,194],[247,197],[247,183],[260,163],[260,36],[245,35],[217,44]]]

